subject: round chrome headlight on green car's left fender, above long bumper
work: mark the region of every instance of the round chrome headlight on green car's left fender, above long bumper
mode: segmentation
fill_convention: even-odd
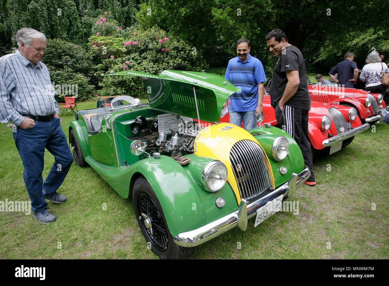
[[[227,181],[226,165],[217,160],[209,162],[203,170],[201,181],[207,191],[219,191]]]

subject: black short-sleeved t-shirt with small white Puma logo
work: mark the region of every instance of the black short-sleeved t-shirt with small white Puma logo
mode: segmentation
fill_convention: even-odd
[[[287,70],[298,70],[300,84],[296,93],[291,97],[286,105],[309,110],[311,107],[311,97],[308,92],[307,74],[305,73],[305,63],[303,54],[295,46],[287,46],[282,51],[276,65],[273,68],[273,79],[270,85],[270,98],[272,107],[275,108],[284,94]]]

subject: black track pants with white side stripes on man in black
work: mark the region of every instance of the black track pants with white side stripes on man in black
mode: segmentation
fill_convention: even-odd
[[[300,147],[304,163],[311,171],[311,176],[307,181],[315,182],[311,142],[308,137],[308,112],[309,110],[289,105],[284,105],[284,109],[281,111],[277,104],[275,107],[275,118],[277,119],[278,127],[291,135]]]

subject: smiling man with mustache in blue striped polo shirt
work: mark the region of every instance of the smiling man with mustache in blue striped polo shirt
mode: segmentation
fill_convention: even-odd
[[[260,60],[250,54],[246,38],[237,41],[238,56],[228,62],[224,78],[240,90],[231,95],[230,123],[250,130],[257,126],[256,114],[262,112],[265,71]]]

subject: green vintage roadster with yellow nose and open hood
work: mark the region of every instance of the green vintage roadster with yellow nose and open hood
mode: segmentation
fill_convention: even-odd
[[[238,92],[219,75],[109,76],[141,77],[149,104],[120,96],[110,107],[78,111],[70,147],[78,166],[91,166],[119,195],[132,196],[142,233],[160,258],[187,257],[235,226],[246,230],[253,216],[257,226],[310,176],[286,132],[218,123],[225,100]]]

